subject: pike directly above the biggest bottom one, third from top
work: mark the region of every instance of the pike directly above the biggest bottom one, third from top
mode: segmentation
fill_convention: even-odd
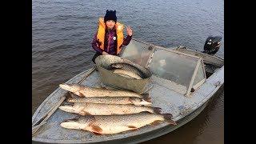
[[[59,106],[59,109],[80,115],[111,115],[111,114],[136,114],[142,111],[160,113],[161,108],[150,106],[120,105],[106,103],[74,102]]]

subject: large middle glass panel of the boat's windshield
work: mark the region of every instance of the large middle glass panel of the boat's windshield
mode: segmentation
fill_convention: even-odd
[[[198,58],[156,49],[150,62],[150,70],[161,78],[188,88],[197,62]]]

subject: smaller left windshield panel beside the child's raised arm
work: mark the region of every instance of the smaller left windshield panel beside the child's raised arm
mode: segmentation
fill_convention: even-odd
[[[153,47],[149,44],[131,40],[122,53],[122,58],[129,59],[139,65],[146,66]]]

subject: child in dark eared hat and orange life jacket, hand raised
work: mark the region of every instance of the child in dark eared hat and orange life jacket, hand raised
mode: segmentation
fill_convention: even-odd
[[[92,47],[96,50],[93,62],[102,54],[118,55],[122,50],[122,45],[127,46],[130,43],[133,34],[130,26],[126,26],[126,38],[124,38],[122,30],[123,25],[117,22],[116,10],[106,10],[105,17],[98,20],[98,31],[91,42]]]

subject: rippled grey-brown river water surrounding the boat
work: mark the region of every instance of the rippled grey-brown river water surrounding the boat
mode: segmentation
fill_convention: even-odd
[[[93,66],[90,42],[107,9],[133,38],[166,48],[202,50],[209,35],[220,35],[224,57],[223,0],[32,0],[32,114],[58,84]],[[145,143],[154,142],[224,143],[224,87],[197,118]]]

